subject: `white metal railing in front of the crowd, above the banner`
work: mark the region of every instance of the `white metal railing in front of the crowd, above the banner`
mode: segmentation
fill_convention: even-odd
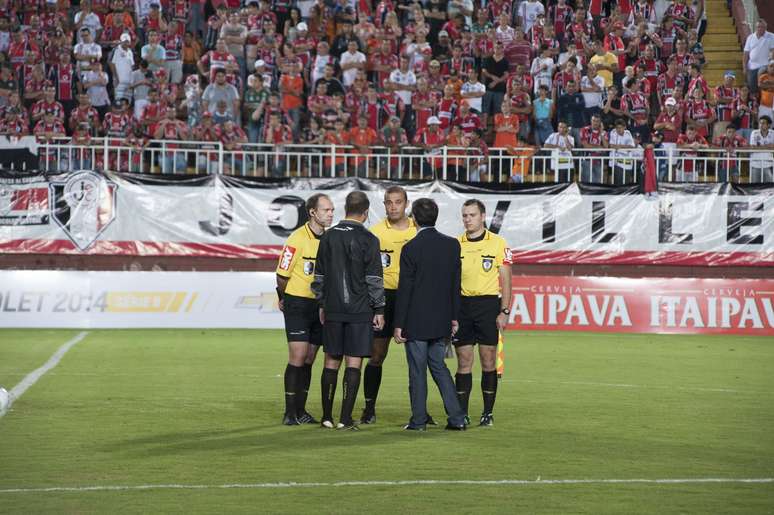
[[[120,172],[242,177],[363,177],[371,179],[444,179],[463,182],[570,182],[628,184],[643,170],[642,149],[374,146],[358,150],[338,145],[243,144],[220,142],[97,138],[90,145],[67,141],[39,143],[40,168],[51,171],[107,169]],[[774,169],[771,149],[658,149],[656,170],[666,182],[769,182]]]

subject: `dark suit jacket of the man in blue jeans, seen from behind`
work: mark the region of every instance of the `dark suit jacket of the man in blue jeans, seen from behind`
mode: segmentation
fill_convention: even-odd
[[[460,312],[460,242],[434,227],[422,229],[400,254],[395,327],[403,337],[431,340],[451,335]]]

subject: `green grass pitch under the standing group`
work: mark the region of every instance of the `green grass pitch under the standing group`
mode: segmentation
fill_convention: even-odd
[[[0,384],[10,390],[75,334],[0,331]],[[396,345],[378,424],[345,433],[283,427],[285,360],[281,331],[92,331],[0,418],[0,490],[774,477],[771,338],[509,333],[495,427],[465,433],[400,430],[408,393]],[[309,403],[316,415],[320,366]],[[430,411],[443,419],[432,385]],[[0,513],[772,510],[772,483],[0,492]]]

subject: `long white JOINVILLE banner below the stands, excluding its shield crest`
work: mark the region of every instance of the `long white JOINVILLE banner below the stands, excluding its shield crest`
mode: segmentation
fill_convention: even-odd
[[[61,213],[41,216],[48,205],[41,200],[35,210],[14,211],[12,218],[0,216],[0,252],[276,258],[290,232],[305,221],[305,199],[317,192],[240,187],[219,177],[204,186],[109,179],[107,184],[115,184],[110,195],[104,195],[115,197],[110,217],[103,216],[98,234],[77,239],[82,249],[71,241],[74,229],[72,224],[63,226]],[[0,189],[9,190],[5,195],[9,198],[27,198],[32,195],[29,191],[43,191],[47,184],[45,178],[39,184],[0,182]],[[310,179],[303,187],[316,184],[323,183]],[[379,207],[384,184],[373,182],[369,187],[365,193],[374,206],[369,219],[375,222],[384,216]],[[576,184],[548,195],[459,192],[443,183],[407,188],[409,200],[433,198],[440,208],[438,229],[455,236],[463,232],[462,203],[472,196],[480,198],[492,213],[487,220],[490,228],[509,243],[517,264],[774,265],[774,197],[766,192],[665,192],[652,201],[641,195],[583,195]],[[14,193],[17,190],[19,194]],[[337,220],[343,216],[349,191],[324,190],[336,206]],[[48,209],[62,207],[61,202],[51,204]],[[220,213],[218,221],[202,222],[212,220],[215,213]],[[70,227],[71,234],[63,227]]]

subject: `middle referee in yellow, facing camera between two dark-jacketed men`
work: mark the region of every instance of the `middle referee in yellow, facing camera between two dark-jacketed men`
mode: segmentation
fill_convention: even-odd
[[[384,294],[387,304],[384,309],[384,327],[374,332],[371,357],[363,375],[363,393],[365,409],[360,417],[361,424],[376,422],[376,397],[382,384],[382,363],[392,338],[395,297],[400,276],[400,252],[403,246],[417,235],[414,220],[406,215],[408,195],[400,186],[391,186],[384,192],[385,219],[371,227],[371,232],[379,238],[379,252],[382,257],[384,274]]]

